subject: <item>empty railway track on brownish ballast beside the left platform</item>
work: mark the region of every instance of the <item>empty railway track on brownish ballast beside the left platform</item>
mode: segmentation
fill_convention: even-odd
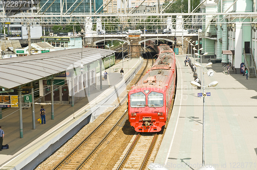
[[[152,59],[153,63],[153,59]],[[135,83],[138,82],[144,71],[148,68],[148,61],[141,75]],[[135,84],[134,83],[134,84]],[[132,84],[131,84],[132,86]],[[131,87],[130,87],[131,88]],[[104,148],[108,142],[108,138],[115,135],[121,126],[121,122],[127,119],[127,105],[123,104],[127,100],[122,99],[118,107],[112,111],[100,124],[91,132],[72,152],[70,152],[56,167],[53,169],[87,169],[94,161],[95,157]]]

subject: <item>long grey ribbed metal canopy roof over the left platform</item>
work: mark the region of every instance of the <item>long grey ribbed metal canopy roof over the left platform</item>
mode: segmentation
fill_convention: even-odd
[[[47,52],[29,56],[0,59],[0,87],[14,88],[77,68],[115,51],[96,48],[79,48]]]

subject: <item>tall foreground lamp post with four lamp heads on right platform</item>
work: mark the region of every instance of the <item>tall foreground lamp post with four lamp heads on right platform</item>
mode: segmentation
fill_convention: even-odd
[[[198,63],[195,63],[196,67],[201,67],[201,68],[209,67],[211,65],[212,65],[212,62],[207,63],[206,66],[201,66]],[[203,74],[204,74],[204,72],[203,72]],[[194,87],[201,87],[204,89],[204,92],[203,92],[203,166],[204,166],[205,165],[205,97],[206,97],[205,88],[206,87],[215,87],[215,86],[217,86],[218,82],[213,81],[210,84],[208,84],[208,86],[204,85],[205,79],[203,80],[203,86],[201,86],[198,82],[195,82],[195,81],[191,81],[190,83]]]

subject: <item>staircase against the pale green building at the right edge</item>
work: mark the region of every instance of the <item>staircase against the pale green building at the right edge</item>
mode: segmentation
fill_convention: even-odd
[[[249,78],[256,78],[256,64],[252,57],[252,49],[250,53],[245,53],[245,66],[249,71]]]

